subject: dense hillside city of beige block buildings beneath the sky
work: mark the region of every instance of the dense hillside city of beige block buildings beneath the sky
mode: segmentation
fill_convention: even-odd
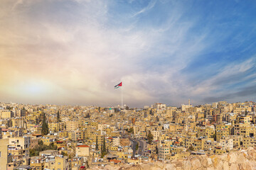
[[[144,108],[0,103],[0,118],[0,169],[8,170],[114,169],[256,147],[252,101]]]

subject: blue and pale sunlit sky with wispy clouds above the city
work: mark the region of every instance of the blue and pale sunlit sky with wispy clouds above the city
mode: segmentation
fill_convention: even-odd
[[[0,0],[0,101],[256,101],[256,1]],[[122,81],[122,88],[114,86]],[[121,95],[122,94],[122,95]]]

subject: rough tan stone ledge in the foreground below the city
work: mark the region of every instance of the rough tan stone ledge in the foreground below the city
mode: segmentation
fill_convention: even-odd
[[[123,164],[118,166],[107,165],[104,168],[100,166],[91,167],[91,169],[109,169],[109,170],[256,170],[256,150],[252,147],[247,150],[230,152],[221,155],[212,155],[210,157],[191,156],[188,159],[177,159],[171,162],[148,162],[137,165]]]

